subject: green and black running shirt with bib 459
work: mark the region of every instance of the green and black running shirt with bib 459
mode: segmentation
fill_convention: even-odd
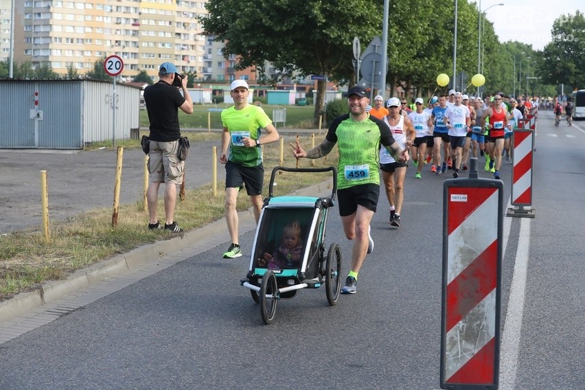
[[[325,138],[336,142],[339,149],[339,190],[362,184],[380,185],[380,144],[391,146],[395,142],[384,122],[371,115],[354,121],[347,113],[333,119]]]

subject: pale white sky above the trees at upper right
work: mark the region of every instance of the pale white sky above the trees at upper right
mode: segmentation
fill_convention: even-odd
[[[479,0],[477,0],[479,3]],[[488,10],[488,7],[496,5]],[[542,50],[553,38],[553,22],[562,14],[585,12],[583,0],[482,0],[481,9],[488,21],[494,23],[494,30],[501,43],[519,41]]]

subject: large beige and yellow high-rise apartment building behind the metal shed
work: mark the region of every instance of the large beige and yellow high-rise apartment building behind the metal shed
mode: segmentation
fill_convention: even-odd
[[[124,60],[122,80],[141,70],[156,76],[164,61],[200,76],[206,41],[196,18],[206,12],[205,0],[18,0],[14,60],[83,75],[116,54]]]

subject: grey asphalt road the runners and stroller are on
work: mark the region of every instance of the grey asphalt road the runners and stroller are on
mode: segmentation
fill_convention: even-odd
[[[536,218],[504,218],[500,389],[585,383],[585,130],[552,124],[550,113],[539,116]],[[511,168],[501,170],[505,200]],[[324,288],[301,290],[279,301],[275,322],[264,325],[238,284],[248,268],[249,232],[239,259],[220,258],[227,243],[211,246],[1,344],[0,388],[438,389],[446,178],[431,176],[428,165],[422,180],[414,172],[409,167],[400,229],[387,222],[382,192],[372,222],[376,245],[358,292],[336,306],[328,306]],[[325,242],[341,245],[345,275],[351,246],[336,209],[328,222]],[[518,316],[519,325],[507,328]]]

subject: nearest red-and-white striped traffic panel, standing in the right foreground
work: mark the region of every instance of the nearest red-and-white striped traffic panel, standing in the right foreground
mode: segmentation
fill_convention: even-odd
[[[443,185],[441,389],[496,390],[499,376],[503,183]]]

